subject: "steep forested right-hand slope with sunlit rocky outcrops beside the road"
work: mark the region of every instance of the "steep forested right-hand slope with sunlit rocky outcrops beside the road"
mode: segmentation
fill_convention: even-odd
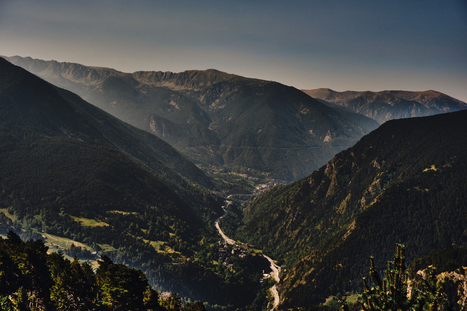
[[[280,308],[311,308],[361,291],[368,256],[386,267],[394,243],[407,260],[467,247],[467,111],[391,120],[297,182],[244,212],[236,238],[284,260]]]

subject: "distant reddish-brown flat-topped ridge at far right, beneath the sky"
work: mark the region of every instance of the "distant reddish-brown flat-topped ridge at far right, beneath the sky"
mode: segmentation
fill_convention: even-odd
[[[379,123],[405,117],[425,117],[467,109],[467,104],[434,91],[336,92],[330,89],[302,90],[313,98],[350,109]]]

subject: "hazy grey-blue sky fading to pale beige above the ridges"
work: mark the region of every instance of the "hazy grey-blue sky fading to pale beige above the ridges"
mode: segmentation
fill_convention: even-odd
[[[0,0],[0,55],[467,102],[466,3]]]

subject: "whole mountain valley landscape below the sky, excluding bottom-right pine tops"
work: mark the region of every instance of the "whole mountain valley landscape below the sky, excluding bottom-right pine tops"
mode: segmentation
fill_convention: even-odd
[[[4,58],[1,308],[361,310],[375,256],[465,310],[465,103]]]

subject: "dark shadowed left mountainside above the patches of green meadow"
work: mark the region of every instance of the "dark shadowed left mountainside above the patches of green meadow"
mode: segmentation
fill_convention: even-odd
[[[18,214],[66,207],[105,218],[110,210],[153,206],[190,226],[220,212],[218,198],[170,166],[195,180],[205,175],[159,138],[7,61],[0,70],[4,207]]]

